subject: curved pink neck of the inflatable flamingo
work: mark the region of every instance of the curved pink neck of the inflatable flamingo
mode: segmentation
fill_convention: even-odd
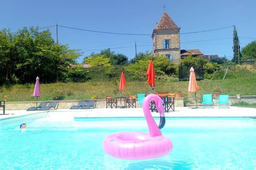
[[[143,101],[143,112],[148,124],[149,136],[150,137],[162,136],[160,129],[158,128],[153,116],[150,113],[149,105],[152,100],[156,101],[156,98],[154,96],[145,97]]]

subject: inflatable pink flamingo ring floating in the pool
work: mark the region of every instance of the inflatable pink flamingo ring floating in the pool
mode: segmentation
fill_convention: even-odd
[[[149,104],[152,100],[155,101],[160,113],[159,126],[150,114]],[[170,154],[173,148],[172,142],[169,138],[162,136],[160,131],[165,124],[163,100],[155,94],[146,96],[143,100],[143,111],[149,133],[119,132],[109,135],[103,141],[106,154],[126,160],[153,159]]]

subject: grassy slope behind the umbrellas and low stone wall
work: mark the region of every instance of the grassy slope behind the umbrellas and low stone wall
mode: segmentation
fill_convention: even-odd
[[[236,94],[241,96],[256,95],[256,88],[254,86],[256,84],[256,71],[241,69],[236,71],[236,75],[239,79],[198,81],[198,102],[202,102],[202,94],[212,93],[214,86],[219,86],[222,94],[228,94],[229,96],[235,96]],[[188,104],[195,103],[194,93],[188,93],[188,85],[188,81],[166,82],[156,80],[155,92],[168,91],[169,93],[175,93],[178,89],[181,89],[184,102]],[[104,99],[105,96],[120,96],[119,82],[108,81],[101,83],[99,80],[84,83],[41,84],[41,97],[38,100],[53,100],[54,90],[64,91],[63,100],[91,99],[94,95],[97,96],[97,99]],[[3,86],[0,87],[0,100],[7,96],[7,101],[9,102],[35,101],[35,97],[32,96],[33,91],[34,84]],[[137,93],[151,93],[151,88],[147,81],[126,81],[122,94],[124,96],[134,96]]]

